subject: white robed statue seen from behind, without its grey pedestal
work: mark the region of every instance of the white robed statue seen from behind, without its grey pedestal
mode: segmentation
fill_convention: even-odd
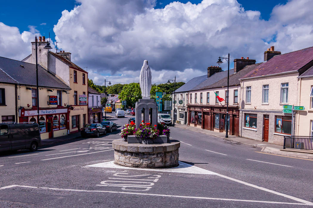
[[[143,66],[141,67],[139,76],[139,83],[142,98],[150,99],[150,90],[152,87],[152,82],[151,82],[151,70],[147,60],[143,61]]]

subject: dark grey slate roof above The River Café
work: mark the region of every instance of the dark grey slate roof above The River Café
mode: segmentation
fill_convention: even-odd
[[[0,57],[0,68],[11,78],[10,83],[36,86],[37,81],[35,64]],[[0,72],[0,80],[3,79],[4,81],[9,81],[8,76],[5,78]],[[50,74],[40,65],[38,65],[38,86],[46,88],[70,89],[69,86],[65,85],[61,80]]]

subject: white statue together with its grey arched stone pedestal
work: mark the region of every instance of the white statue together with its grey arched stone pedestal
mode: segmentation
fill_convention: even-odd
[[[141,123],[141,110],[143,111],[143,121],[150,122],[152,125],[157,125],[157,104],[154,99],[150,99],[151,90],[151,70],[148,61],[144,60],[140,71],[140,89],[143,99],[136,102],[136,128],[139,128]],[[150,115],[149,115],[150,112]]]

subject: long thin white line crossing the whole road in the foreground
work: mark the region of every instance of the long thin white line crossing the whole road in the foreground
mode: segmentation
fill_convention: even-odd
[[[243,201],[243,202],[259,202],[266,204],[290,204],[290,205],[308,205],[313,206],[312,202],[308,203],[291,203],[291,202],[279,202],[279,201],[257,201],[257,200],[243,200],[243,199],[225,199],[225,198],[211,198],[211,197],[200,197],[200,196],[175,196],[175,195],[165,195],[165,194],[151,194],[151,193],[136,193],[136,192],[124,192],[124,191],[101,191],[101,190],[79,190],[79,189],[63,189],[63,188],[49,188],[49,187],[36,187],[36,186],[22,186],[22,185],[11,185],[0,187],[0,190],[13,188],[13,187],[23,187],[23,188],[33,188],[33,189],[48,189],[56,191],[77,191],[77,192],[100,192],[100,193],[117,193],[117,194],[133,194],[133,195],[146,195],[146,196],[163,196],[163,197],[177,197],[177,198],[190,198],[190,199],[207,199],[207,200],[222,200],[222,201]]]

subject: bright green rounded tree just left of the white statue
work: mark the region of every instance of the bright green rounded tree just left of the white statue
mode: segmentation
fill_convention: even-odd
[[[130,83],[128,85],[124,85],[118,98],[120,100],[126,100],[127,106],[132,106],[142,98],[139,83]]]

